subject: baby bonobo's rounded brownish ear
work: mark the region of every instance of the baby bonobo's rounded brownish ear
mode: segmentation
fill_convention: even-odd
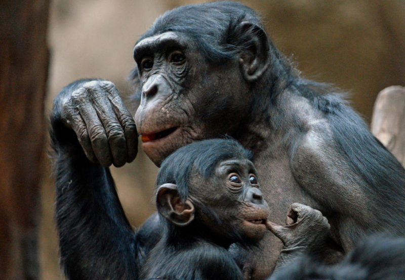
[[[175,184],[163,184],[156,191],[157,211],[178,226],[186,226],[194,220],[194,205],[182,201]]]

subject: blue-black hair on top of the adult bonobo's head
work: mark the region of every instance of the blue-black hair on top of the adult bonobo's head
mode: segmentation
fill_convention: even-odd
[[[237,25],[250,22],[263,28],[260,16],[253,9],[237,2],[220,1],[182,6],[158,17],[137,44],[145,38],[172,31],[187,34],[204,49],[211,61],[230,58],[230,47],[237,40]]]

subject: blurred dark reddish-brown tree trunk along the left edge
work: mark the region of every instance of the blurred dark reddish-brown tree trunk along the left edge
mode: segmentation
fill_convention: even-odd
[[[0,279],[39,279],[49,0],[0,3]]]

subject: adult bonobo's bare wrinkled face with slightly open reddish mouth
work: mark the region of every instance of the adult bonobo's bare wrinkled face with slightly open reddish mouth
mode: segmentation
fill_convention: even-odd
[[[157,166],[191,142],[232,135],[248,111],[237,57],[210,63],[186,34],[169,31],[140,41],[134,58],[142,86],[135,122]]]

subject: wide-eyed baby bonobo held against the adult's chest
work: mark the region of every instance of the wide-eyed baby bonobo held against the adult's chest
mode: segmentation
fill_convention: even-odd
[[[141,279],[243,279],[227,249],[259,241],[269,212],[251,160],[236,141],[210,139],[161,164],[156,205],[165,233]]]

